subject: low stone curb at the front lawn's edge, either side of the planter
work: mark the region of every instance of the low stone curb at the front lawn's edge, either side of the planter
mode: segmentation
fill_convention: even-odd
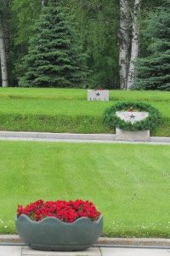
[[[17,235],[0,235],[0,243],[22,243]],[[97,245],[170,247],[166,238],[111,238],[100,237]]]

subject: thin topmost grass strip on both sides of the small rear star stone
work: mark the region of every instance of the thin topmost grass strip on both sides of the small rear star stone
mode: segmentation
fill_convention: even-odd
[[[40,98],[58,100],[87,100],[87,90],[60,88],[0,88],[0,97],[7,98]],[[165,102],[170,100],[170,92],[159,90],[110,90],[110,100],[144,100]]]

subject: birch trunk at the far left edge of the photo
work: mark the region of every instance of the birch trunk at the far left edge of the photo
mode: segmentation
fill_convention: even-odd
[[[0,58],[1,58],[2,86],[8,87],[7,58],[6,58],[6,50],[5,50],[5,38],[3,33],[3,19],[1,15],[0,15]]]

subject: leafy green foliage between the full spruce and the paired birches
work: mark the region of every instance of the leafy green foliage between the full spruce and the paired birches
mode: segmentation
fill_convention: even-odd
[[[91,87],[118,86],[117,0],[65,0],[63,3],[76,22],[82,49],[88,53]]]

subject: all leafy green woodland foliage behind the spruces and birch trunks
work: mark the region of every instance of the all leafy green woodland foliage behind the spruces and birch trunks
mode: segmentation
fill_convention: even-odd
[[[36,32],[33,27],[40,19],[42,9],[48,3],[57,2],[62,5],[63,11],[66,9],[70,26],[78,33],[75,40],[82,45],[83,53],[88,55],[86,64],[91,73],[88,73],[88,83],[85,83],[84,87],[119,88],[120,0],[0,0],[0,8],[1,3],[7,2],[9,6],[8,15],[5,12],[5,20],[7,24],[9,21],[10,40],[6,37],[5,45],[10,49],[7,50],[10,86],[17,86],[17,78],[23,73],[20,62],[28,54],[30,38],[34,37]],[[128,0],[128,3],[132,13],[134,0]],[[148,20],[150,13],[157,7],[166,7],[168,3],[169,0],[141,1],[139,20],[141,57],[151,54],[149,46],[153,42],[152,38],[142,33],[148,26],[145,20]]]

